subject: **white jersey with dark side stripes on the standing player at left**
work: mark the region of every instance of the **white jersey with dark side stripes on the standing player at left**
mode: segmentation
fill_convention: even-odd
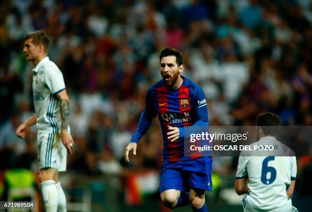
[[[33,69],[33,94],[38,132],[60,133],[60,104],[55,95],[65,90],[63,74],[48,57]]]

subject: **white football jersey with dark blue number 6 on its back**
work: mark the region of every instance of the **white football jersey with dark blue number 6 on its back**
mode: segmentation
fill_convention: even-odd
[[[256,143],[261,145],[268,140],[278,143],[270,136]],[[248,178],[249,188],[242,200],[244,211],[291,212],[292,200],[287,197],[286,190],[296,175],[295,156],[240,156],[236,178]]]

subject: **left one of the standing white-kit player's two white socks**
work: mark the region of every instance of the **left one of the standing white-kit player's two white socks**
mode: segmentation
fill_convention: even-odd
[[[43,202],[46,212],[58,210],[58,191],[54,180],[46,180],[40,183]]]

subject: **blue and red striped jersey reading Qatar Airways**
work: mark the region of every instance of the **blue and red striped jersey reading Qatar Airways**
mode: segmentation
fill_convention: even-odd
[[[164,161],[186,161],[195,157],[184,156],[184,127],[207,126],[208,112],[202,89],[183,77],[183,84],[177,90],[168,90],[163,80],[153,84],[146,93],[145,109],[131,142],[138,143],[146,133],[152,118],[158,115],[164,140]],[[168,140],[168,125],[179,127],[179,139]]]

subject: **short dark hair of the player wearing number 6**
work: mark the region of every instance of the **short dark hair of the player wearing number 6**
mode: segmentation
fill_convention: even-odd
[[[265,135],[277,135],[279,127],[271,126],[280,126],[280,119],[275,113],[261,113],[257,116],[257,126],[261,126]]]

